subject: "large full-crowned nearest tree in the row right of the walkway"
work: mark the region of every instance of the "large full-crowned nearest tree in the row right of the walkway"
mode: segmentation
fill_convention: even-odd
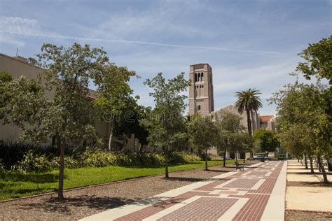
[[[317,83],[286,85],[270,99],[277,104],[279,140],[292,155],[317,156],[324,183],[322,159],[331,157],[331,90]]]

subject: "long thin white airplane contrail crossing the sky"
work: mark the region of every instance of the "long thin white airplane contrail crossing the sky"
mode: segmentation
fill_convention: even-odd
[[[58,34],[40,34],[40,33],[27,33],[20,31],[7,31],[1,30],[0,32],[6,34],[18,34],[24,36],[34,36],[34,37],[44,37],[44,38],[65,38],[65,39],[75,39],[79,41],[97,41],[97,42],[110,42],[110,43],[130,43],[130,44],[141,44],[141,45],[157,45],[162,47],[170,47],[170,48],[188,48],[188,49],[211,49],[211,50],[226,50],[233,52],[248,52],[248,53],[261,53],[261,54],[272,54],[272,55],[282,55],[280,52],[274,51],[266,51],[266,50],[242,50],[242,49],[234,49],[234,48],[222,48],[222,47],[210,47],[210,46],[189,46],[189,45],[173,45],[173,44],[165,44],[165,43],[155,43],[148,41],[128,41],[128,40],[120,40],[120,39],[108,39],[108,38],[85,38],[78,36],[66,36],[66,35],[58,35]]]

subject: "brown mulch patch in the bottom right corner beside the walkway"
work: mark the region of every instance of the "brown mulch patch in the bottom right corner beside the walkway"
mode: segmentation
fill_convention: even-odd
[[[312,212],[312,211],[295,211],[286,210],[285,211],[286,221],[295,220],[332,220],[332,213],[327,212]]]

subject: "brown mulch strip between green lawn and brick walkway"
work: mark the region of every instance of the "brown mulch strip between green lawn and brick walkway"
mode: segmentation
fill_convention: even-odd
[[[254,164],[256,162],[246,162]],[[170,173],[170,178],[154,176],[127,180],[97,187],[71,190],[64,193],[64,201],[57,194],[31,197],[0,203],[0,220],[78,220],[102,211],[131,204],[156,194],[198,182],[221,173],[235,171],[235,167],[209,167],[209,171],[194,169]]]

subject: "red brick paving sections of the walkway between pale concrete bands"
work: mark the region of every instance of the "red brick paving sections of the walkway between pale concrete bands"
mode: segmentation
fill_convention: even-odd
[[[194,191],[179,194],[177,197],[172,197],[171,199],[153,204],[152,206],[148,206],[134,213],[124,215],[117,220],[143,220],[194,196],[202,196],[202,198],[196,199],[190,204],[186,204],[186,206],[165,215],[160,218],[160,220],[218,220],[223,213],[228,211],[228,209],[235,204],[238,200],[236,198],[247,198],[248,201],[239,209],[233,220],[259,220],[263,215],[263,211],[268,203],[268,199],[275,186],[283,164],[284,162],[268,162],[261,164],[256,170],[252,168],[246,169],[246,171],[244,171],[246,174],[241,171],[232,176],[215,180],[214,182],[199,187]],[[272,170],[273,168],[275,169]],[[247,173],[249,171],[251,171],[251,173]],[[264,176],[268,172],[271,172],[270,176]],[[243,174],[244,176],[241,176]],[[254,176],[261,177],[253,177],[253,174]],[[221,185],[232,178],[235,180],[231,183],[228,183],[221,188],[216,188],[216,186]],[[258,187],[258,190],[250,190],[258,180],[264,180],[263,184]],[[230,190],[230,188],[232,188],[232,190]],[[214,190],[220,190],[219,194],[211,194]],[[239,191],[246,191],[247,194],[238,195]],[[232,198],[220,197],[220,194],[228,194],[228,197]]]

